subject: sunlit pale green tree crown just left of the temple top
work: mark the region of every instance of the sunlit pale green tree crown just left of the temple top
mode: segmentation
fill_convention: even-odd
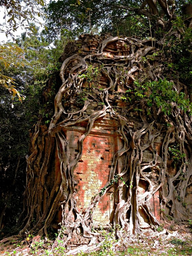
[[[60,70],[58,59],[63,52],[63,46],[58,40],[54,42],[55,47],[50,46],[44,33],[39,33],[38,29],[30,37],[23,33],[16,39],[16,43],[24,51],[23,58],[27,61],[25,72],[27,71],[28,77],[33,76],[36,84],[44,86],[48,76]]]

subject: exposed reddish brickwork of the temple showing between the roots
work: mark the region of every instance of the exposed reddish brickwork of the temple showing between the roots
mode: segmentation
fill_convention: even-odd
[[[105,36],[89,36],[82,35],[75,42],[75,44],[69,44],[66,49],[66,52],[69,52],[70,55],[74,53],[96,53],[97,48],[102,40],[107,38],[108,35]],[[116,56],[128,55],[131,52],[131,46],[126,45],[124,41],[115,41],[105,46],[104,56],[106,58],[116,58]],[[63,60],[65,60],[68,55],[64,54]],[[138,74],[138,70],[133,72],[132,77]],[[126,81],[129,84],[129,81]],[[132,80],[130,80],[132,83]],[[104,74],[101,74],[99,77],[99,81],[95,84],[83,84],[82,87],[89,87],[89,90],[92,90],[92,95],[95,97],[98,96],[100,90],[109,86],[108,79]],[[125,92],[125,88],[123,84],[117,83],[115,91],[116,94],[122,94]],[[116,112],[120,115],[124,115],[126,111],[126,102],[119,100],[120,97],[116,97],[116,94],[108,95],[108,100],[112,106],[115,106]],[[71,99],[70,102],[66,102],[65,105],[68,105],[69,111],[76,111],[77,103]],[[97,105],[95,106],[97,108]],[[94,113],[95,109],[89,107],[86,109],[87,114]],[[135,113],[132,112],[129,117],[129,126],[131,128],[137,128],[140,124],[140,118],[138,111]],[[69,143],[70,148],[70,161],[75,159],[76,155],[79,152],[78,149],[78,140],[85,133],[87,123],[81,123],[79,126],[69,126],[68,128],[63,128],[63,132],[66,136],[66,139]],[[76,164],[74,169],[74,180],[75,180],[75,189],[76,189],[76,206],[80,213],[84,214],[86,209],[91,203],[92,198],[98,193],[98,191],[105,186],[109,179],[109,171],[111,168],[113,156],[115,152],[120,150],[123,147],[123,139],[116,132],[116,128],[118,123],[111,119],[110,116],[105,116],[97,120],[94,123],[91,133],[84,140],[83,147],[83,155],[79,160],[78,164]],[[147,135],[146,135],[147,136]],[[147,138],[146,138],[147,141]],[[145,138],[143,139],[143,143],[146,142]],[[161,155],[160,150],[163,143],[163,138],[161,136],[156,137],[154,140],[154,147],[158,155]],[[148,148],[144,150],[142,163],[149,163],[153,159],[153,149]],[[57,155],[57,154],[56,154]],[[56,156],[57,157],[57,156]],[[157,164],[161,168],[162,159],[158,156]],[[120,174],[122,172],[124,166],[124,156],[121,156],[118,160],[116,174]],[[170,174],[174,174],[174,169],[172,166],[169,166]],[[146,177],[148,177],[152,181],[156,181],[158,179],[158,170],[155,168],[148,168],[144,172]],[[114,214],[116,210],[116,206],[122,200],[126,200],[126,187],[123,187],[123,191],[118,189],[119,186],[123,187],[123,181],[119,180],[113,188],[111,188],[100,200],[96,211],[94,213],[94,226],[100,225],[108,225],[114,219]],[[140,179],[139,181],[139,189],[138,195],[142,195],[148,189],[148,184],[146,180]],[[121,192],[120,192],[121,191]],[[164,185],[164,191],[167,191],[167,185]],[[168,191],[167,191],[168,193]],[[191,192],[188,191],[188,195]],[[188,198],[186,198],[187,201]],[[150,200],[150,208],[152,213],[155,215],[157,220],[160,220],[160,201],[159,201],[159,191],[157,191]],[[148,228],[149,227],[149,219],[147,214],[140,207],[140,227]],[[57,221],[60,222],[61,214],[58,215]]]

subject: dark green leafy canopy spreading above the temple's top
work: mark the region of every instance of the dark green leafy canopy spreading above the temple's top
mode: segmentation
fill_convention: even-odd
[[[153,37],[156,25],[165,28],[177,16],[189,17],[182,11],[189,3],[192,1],[51,0],[43,9],[50,40],[87,32]]]

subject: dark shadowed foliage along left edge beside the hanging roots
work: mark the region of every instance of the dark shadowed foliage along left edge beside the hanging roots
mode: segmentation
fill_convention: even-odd
[[[30,124],[25,116],[27,102],[21,103],[18,99],[13,102],[12,96],[4,88],[1,89],[0,100],[0,208],[3,222],[8,220],[10,223],[4,228],[6,233],[14,229],[22,207]]]

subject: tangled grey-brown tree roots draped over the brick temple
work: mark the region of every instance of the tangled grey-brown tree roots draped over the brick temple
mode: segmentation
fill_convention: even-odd
[[[113,225],[120,225],[127,234],[140,232],[139,209],[145,212],[152,225],[159,225],[150,208],[150,199],[156,191],[160,194],[161,218],[164,219],[166,214],[179,220],[190,218],[185,196],[192,175],[192,118],[188,110],[181,110],[174,102],[169,114],[162,112],[162,106],[157,106],[155,101],[148,106],[146,99],[150,90],[145,88],[144,91],[140,87],[141,96],[137,84],[167,79],[178,94],[185,92],[186,99],[189,97],[187,86],[172,79],[166,71],[164,56],[151,46],[150,40],[112,36],[97,36],[96,39],[92,42],[92,49],[89,45],[76,49],[63,61],[60,69],[62,84],[55,96],[54,115],[48,128],[42,119],[36,124],[31,155],[27,160],[26,206],[20,219],[24,224],[21,235],[26,230],[47,234],[61,207],[62,225],[66,227],[68,239],[77,228],[84,237],[95,236],[96,233],[92,232],[94,211],[100,199],[119,181],[123,183],[117,190],[122,192],[126,186],[126,199],[116,205]],[[121,55],[121,49],[124,49],[124,55]],[[100,84],[102,79],[106,81],[105,86]],[[121,108],[117,109],[117,102],[122,102]],[[123,146],[114,152],[107,183],[82,214],[74,198],[73,171],[82,157],[85,138],[95,122],[106,116],[118,124],[116,132],[121,136]],[[131,127],[130,120],[138,123],[138,127]],[[78,140],[78,154],[71,160],[64,131],[81,125],[86,130]],[[156,150],[154,141],[158,136],[162,143]],[[148,163],[143,162],[145,150],[153,154]],[[179,154],[177,159],[174,150]],[[60,171],[54,177],[55,152]],[[124,157],[124,166],[117,175],[116,166],[121,157]],[[158,159],[161,159],[161,165]],[[150,179],[147,169],[155,170],[156,179]],[[148,184],[143,194],[138,193],[140,180]],[[117,236],[121,235],[120,232],[117,230]]]

